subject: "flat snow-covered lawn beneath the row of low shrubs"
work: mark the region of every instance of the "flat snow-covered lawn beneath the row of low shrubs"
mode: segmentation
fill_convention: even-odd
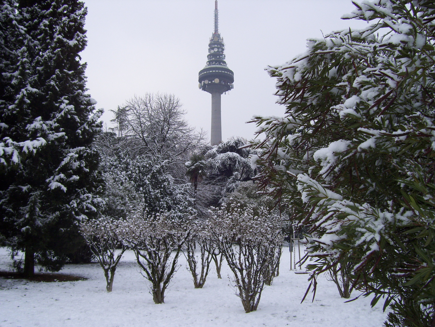
[[[225,264],[223,279],[217,278],[213,266],[202,289],[194,289],[183,255],[179,265],[164,304],[154,304],[132,252],[126,252],[118,265],[111,293],[106,292],[103,270],[97,263],[68,264],[61,271],[87,277],[85,281],[0,278],[0,326],[379,327],[385,320],[383,303],[371,308],[371,299],[362,297],[343,303],[335,284],[325,277],[318,279],[315,301],[311,302],[310,293],[301,304],[308,275],[288,269],[288,248],[283,251],[279,277],[265,287],[258,310],[249,314],[234,295],[228,279],[231,271]],[[0,270],[8,269],[7,249],[0,248]]]

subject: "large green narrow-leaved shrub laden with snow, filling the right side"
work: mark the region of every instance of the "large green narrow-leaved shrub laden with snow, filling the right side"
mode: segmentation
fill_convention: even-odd
[[[309,40],[269,69],[285,116],[254,118],[265,137],[253,164],[311,228],[312,284],[349,262],[372,304],[391,304],[387,326],[433,326],[435,8],[354,3],[345,18],[371,24]]]

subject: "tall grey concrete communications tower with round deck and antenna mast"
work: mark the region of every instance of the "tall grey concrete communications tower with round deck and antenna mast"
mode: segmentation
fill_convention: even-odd
[[[199,72],[199,88],[211,94],[211,145],[222,142],[221,95],[233,88],[234,73],[227,67],[224,39],[218,30],[218,0],[214,1],[214,33],[208,44],[207,65]]]

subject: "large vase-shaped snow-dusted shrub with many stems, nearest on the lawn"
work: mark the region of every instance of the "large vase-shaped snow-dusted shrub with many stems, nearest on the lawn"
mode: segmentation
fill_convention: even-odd
[[[234,274],[236,294],[248,313],[257,310],[284,236],[279,217],[267,207],[232,200],[214,209],[210,224],[218,248]]]

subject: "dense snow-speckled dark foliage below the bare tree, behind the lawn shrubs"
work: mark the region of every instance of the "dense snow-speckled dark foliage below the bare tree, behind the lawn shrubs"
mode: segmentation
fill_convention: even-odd
[[[110,132],[102,133],[97,144],[106,180],[103,215],[127,218],[139,208],[146,215],[171,212],[181,218],[194,213],[189,185],[176,184],[171,175],[173,162],[157,156],[135,155],[122,137]]]

